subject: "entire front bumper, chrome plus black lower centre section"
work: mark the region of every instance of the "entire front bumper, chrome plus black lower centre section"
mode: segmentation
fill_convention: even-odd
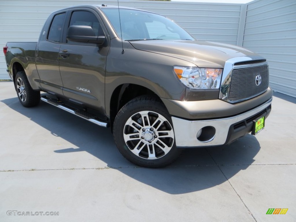
[[[271,111],[272,98],[256,108],[227,118],[211,120],[185,120],[172,117],[177,147],[202,147],[229,144],[252,131],[253,120],[267,116]],[[197,139],[197,133],[203,134]]]

